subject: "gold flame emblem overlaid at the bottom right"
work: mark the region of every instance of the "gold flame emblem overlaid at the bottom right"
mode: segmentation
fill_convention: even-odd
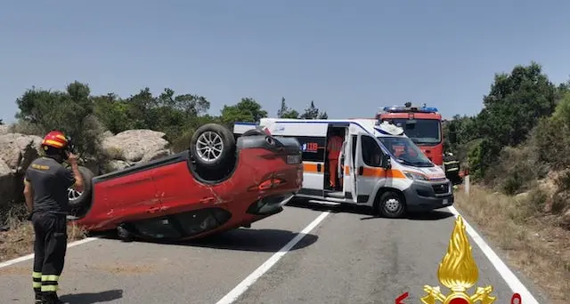
[[[424,286],[428,294],[421,298],[424,304],[436,304],[436,300],[444,304],[492,304],[496,297],[491,296],[493,286],[477,287],[476,292],[468,294],[468,289],[476,284],[479,278],[479,270],[473,259],[471,244],[465,233],[465,224],[461,216],[455,220],[452,238],[450,239],[447,253],[439,263],[437,270],[439,282],[452,292],[445,295],[439,286]]]

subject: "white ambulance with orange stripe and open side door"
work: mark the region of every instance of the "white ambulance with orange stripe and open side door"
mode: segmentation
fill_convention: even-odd
[[[389,218],[453,204],[452,184],[444,171],[394,124],[375,119],[262,118],[259,124],[233,126],[235,136],[264,132],[296,138],[301,144],[303,188],[297,197],[367,205]],[[331,136],[344,140],[338,156],[329,156]],[[329,159],[335,157],[338,165],[330,168]],[[331,170],[337,170],[336,182],[330,181]]]

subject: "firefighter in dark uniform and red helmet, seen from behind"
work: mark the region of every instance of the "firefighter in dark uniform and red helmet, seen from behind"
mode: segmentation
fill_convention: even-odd
[[[36,234],[32,272],[36,303],[62,303],[57,290],[67,250],[68,188],[83,189],[77,156],[69,146],[62,132],[47,133],[41,144],[45,156],[29,164],[24,178],[28,219]],[[62,165],[64,161],[70,171]]]

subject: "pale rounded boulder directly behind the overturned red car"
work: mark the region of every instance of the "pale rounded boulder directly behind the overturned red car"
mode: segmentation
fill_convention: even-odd
[[[164,132],[152,130],[127,130],[103,138],[102,148],[112,159],[139,162],[144,156],[167,148],[164,135]]]

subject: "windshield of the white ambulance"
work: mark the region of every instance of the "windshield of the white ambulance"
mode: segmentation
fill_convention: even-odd
[[[395,156],[402,164],[417,167],[433,167],[428,157],[425,156],[413,141],[407,137],[379,137],[384,147]]]

